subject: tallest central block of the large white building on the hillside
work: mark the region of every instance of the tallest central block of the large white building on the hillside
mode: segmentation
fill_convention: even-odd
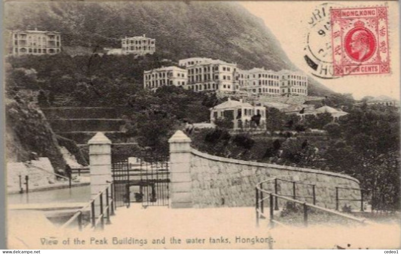
[[[234,92],[239,89],[237,64],[207,60],[186,67],[186,89],[193,91]]]

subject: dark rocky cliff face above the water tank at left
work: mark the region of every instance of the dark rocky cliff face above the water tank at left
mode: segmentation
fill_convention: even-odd
[[[22,100],[6,100],[6,159],[19,162],[31,152],[48,157],[55,170],[65,169],[65,160],[43,113]]]

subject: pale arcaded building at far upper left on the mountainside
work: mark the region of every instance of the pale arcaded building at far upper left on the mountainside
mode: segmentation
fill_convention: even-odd
[[[25,30],[11,32],[13,55],[45,55],[61,52],[61,33]]]

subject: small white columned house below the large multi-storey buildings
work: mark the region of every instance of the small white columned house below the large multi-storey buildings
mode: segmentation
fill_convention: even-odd
[[[264,106],[252,106],[248,102],[242,100],[231,100],[228,98],[223,102],[210,109],[210,121],[215,123],[219,118],[226,118],[232,121],[232,129],[247,129],[254,127],[251,124],[252,116],[260,115],[258,128],[266,128],[266,108]]]

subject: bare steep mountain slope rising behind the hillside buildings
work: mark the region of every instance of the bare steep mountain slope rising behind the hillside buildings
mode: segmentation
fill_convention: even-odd
[[[124,36],[156,38],[172,60],[203,56],[241,68],[296,69],[260,18],[235,2],[6,2],[5,27],[62,32],[63,46],[121,47]],[[311,95],[332,93],[310,79]]]

